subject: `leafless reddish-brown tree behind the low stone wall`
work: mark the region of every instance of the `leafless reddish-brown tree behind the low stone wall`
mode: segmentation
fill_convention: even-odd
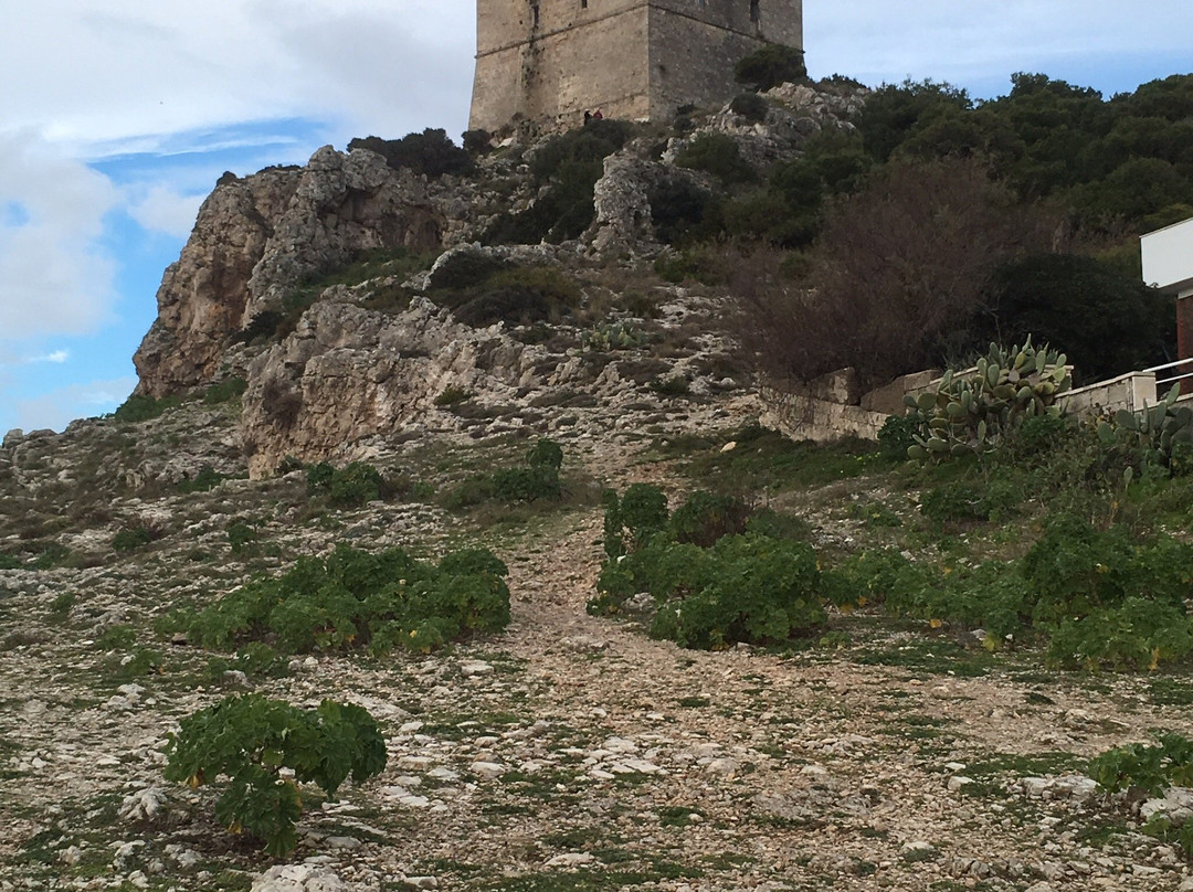
[[[891,162],[833,204],[805,281],[756,252],[730,281],[761,371],[809,380],[853,366],[863,384],[956,358],[975,341],[995,267],[1046,243],[973,160]]]

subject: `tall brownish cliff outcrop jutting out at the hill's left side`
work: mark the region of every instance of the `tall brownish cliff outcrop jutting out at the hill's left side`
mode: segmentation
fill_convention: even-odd
[[[305,277],[373,248],[439,247],[444,187],[371,151],[330,147],[302,169],[224,176],[157,291],[157,318],[134,357],[138,394],[208,383],[233,336]]]

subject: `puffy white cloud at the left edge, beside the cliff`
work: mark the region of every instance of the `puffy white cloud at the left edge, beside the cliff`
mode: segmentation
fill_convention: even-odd
[[[93,330],[113,301],[115,264],[99,247],[118,193],[32,131],[0,134],[0,336]]]

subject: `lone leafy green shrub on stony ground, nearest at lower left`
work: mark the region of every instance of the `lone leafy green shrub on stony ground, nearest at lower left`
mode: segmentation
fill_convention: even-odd
[[[246,694],[183,719],[166,747],[165,776],[193,789],[227,775],[217,820],[233,832],[247,830],[280,857],[298,844],[298,783],[315,783],[334,799],[350,776],[363,783],[385,762],[377,723],[359,706],[323,700],[317,710],[301,710]],[[283,768],[293,780],[282,776]]]

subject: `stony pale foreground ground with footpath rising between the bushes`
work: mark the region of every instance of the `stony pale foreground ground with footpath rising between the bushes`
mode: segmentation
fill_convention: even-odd
[[[585,454],[619,487],[680,483],[624,444]],[[308,657],[256,685],[297,704],[357,702],[389,748],[378,779],[309,805],[298,849],[277,863],[216,824],[209,788],[161,778],[173,723],[236,679],[178,668],[200,658],[190,646],[135,681],[113,680],[119,652],[97,659],[95,633],[135,615],[171,559],[12,586],[0,888],[1193,887],[1179,850],[1130,832],[1082,773],[1187,707],[1161,713],[1139,680],[1012,662],[975,675],[866,664],[882,661],[858,648],[681,650],[632,615],[586,613],[600,537],[593,507],[507,534],[501,634],[421,657]],[[62,591],[87,605],[86,622],[79,607],[75,622],[38,619]],[[854,618],[857,639],[922,656],[874,619]]]

